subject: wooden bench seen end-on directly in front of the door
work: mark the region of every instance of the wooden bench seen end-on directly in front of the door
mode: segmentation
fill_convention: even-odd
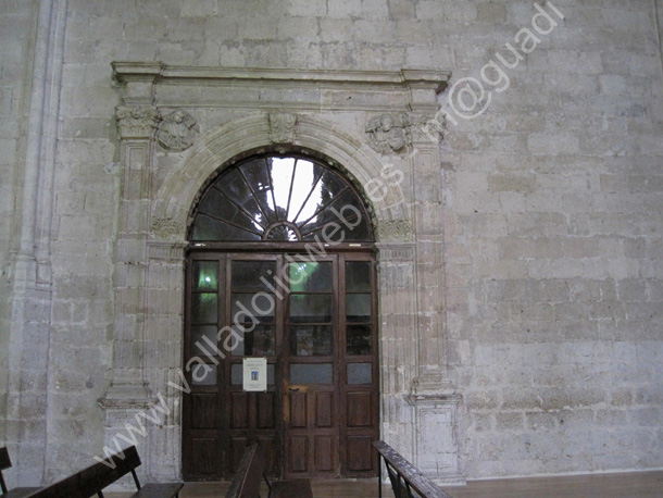
[[[268,498],[313,498],[309,480],[270,482],[266,469],[267,462],[260,446],[249,446],[241,457],[226,498],[260,498],[260,483],[263,478],[270,489]]]

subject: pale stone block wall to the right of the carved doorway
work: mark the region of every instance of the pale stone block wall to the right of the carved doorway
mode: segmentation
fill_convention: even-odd
[[[553,3],[565,21],[443,145],[448,351],[470,476],[663,465],[653,5]],[[514,61],[504,43],[535,11],[467,9],[453,72],[478,78],[497,51]]]

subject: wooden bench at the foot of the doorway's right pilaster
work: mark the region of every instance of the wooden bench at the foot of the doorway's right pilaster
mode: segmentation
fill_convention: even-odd
[[[377,448],[380,461],[385,461],[396,498],[451,498],[385,441],[375,441],[373,446]],[[378,469],[381,469],[379,462]],[[383,487],[379,478],[378,486],[378,496],[381,498]]]

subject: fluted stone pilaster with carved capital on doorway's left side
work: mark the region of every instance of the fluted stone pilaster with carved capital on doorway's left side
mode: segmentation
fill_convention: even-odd
[[[134,420],[154,401],[143,369],[143,289],[148,269],[150,172],[159,113],[151,105],[151,91],[146,92],[142,82],[141,89],[142,103],[134,98],[134,103],[116,110],[123,175],[115,249],[113,381],[99,400],[105,410],[105,443],[111,448],[127,420]]]

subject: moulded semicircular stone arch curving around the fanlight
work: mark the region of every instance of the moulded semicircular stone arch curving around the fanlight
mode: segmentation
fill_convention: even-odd
[[[324,158],[359,188],[376,227],[385,222],[409,225],[405,199],[398,186],[381,182],[379,195],[366,189],[371,180],[380,178],[384,169],[370,147],[338,125],[301,114],[296,119],[291,140],[287,141],[274,141],[268,114],[233,121],[202,136],[158,191],[152,209],[153,225],[155,221],[167,220],[168,235],[185,240],[191,207],[220,167],[261,150],[302,151]]]

